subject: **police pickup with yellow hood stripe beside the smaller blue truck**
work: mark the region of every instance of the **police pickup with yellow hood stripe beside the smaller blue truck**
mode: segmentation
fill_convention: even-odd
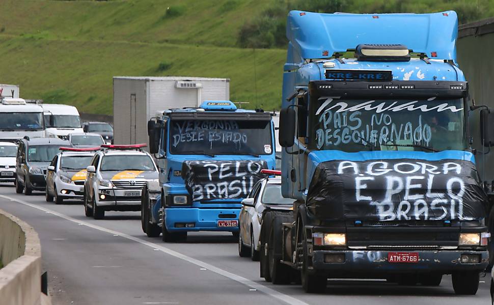
[[[146,144],[101,145],[84,184],[87,217],[102,219],[105,211],[140,211],[141,191],[148,181],[158,181],[158,169]]]

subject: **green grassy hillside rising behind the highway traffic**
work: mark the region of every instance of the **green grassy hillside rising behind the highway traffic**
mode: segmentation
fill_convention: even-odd
[[[477,6],[467,0],[429,3],[433,6],[427,0],[3,0],[0,83],[19,84],[25,98],[111,114],[113,76],[226,77],[233,101],[271,110],[281,102],[289,9],[426,12],[456,6],[475,19],[494,6],[487,0]],[[273,45],[280,49],[238,47]]]

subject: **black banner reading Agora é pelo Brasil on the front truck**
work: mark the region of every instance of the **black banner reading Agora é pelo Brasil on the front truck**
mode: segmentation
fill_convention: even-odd
[[[327,161],[307,195],[312,214],[333,220],[474,220],[486,204],[475,165],[461,160]]]

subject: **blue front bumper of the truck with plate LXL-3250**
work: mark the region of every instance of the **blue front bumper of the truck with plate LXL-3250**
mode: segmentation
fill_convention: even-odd
[[[187,231],[223,231],[238,232],[238,215],[240,209],[232,208],[166,208],[165,223],[170,232]],[[218,221],[236,220],[236,227],[218,227]],[[194,224],[194,227],[182,227],[183,224]]]

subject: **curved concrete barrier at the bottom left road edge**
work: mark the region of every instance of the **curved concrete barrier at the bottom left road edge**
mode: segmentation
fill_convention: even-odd
[[[41,293],[41,245],[38,233],[0,209],[0,303],[49,305]]]

